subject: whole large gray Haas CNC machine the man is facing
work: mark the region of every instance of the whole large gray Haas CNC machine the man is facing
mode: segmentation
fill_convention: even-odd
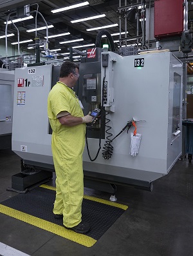
[[[37,170],[53,171],[47,98],[59,70],[50,64],[15,70],[12,150]],[[82,58],[75,90],[85,114],[101,110],[86,129],[85,186],[152,190],[152,181],[167,175],[181,155],[181,61],[167,51],[122,56],[93,48]],[[142,135],[135,156],[133,121]]]

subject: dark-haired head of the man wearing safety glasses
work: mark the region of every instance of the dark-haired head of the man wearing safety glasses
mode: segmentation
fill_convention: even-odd
[[[79,68],[75,63],[66,61],[60,68],[60,79],[59,81],[72,88],[77,83],[79,77]]]

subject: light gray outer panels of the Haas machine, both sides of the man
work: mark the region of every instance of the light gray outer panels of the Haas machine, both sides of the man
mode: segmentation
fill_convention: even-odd
[[[106,110],[109,111],[111,133],[115,137],[131,119],[143,120],[145,122],[137,123],[137,132],[142,134],[142,141],[139,153],[131,156],[132,127],[129,133],[125,130],[113,141],[111,159],[104,159],[100,152],[96,161],[91,162],[85,148],[84,170],[98,173],[98,177],[113,175],[115,179],[125,177],[154,181],[166,175],[181,155],[182,63],[170,52],[126,57],[111,52],[108,54],[109,65],[102,66],[101,79],[106,74],[109,86],[109,106],[106,106]],[[144,65],[135,67],[136,58],[143,58]],[[41,86],[32,86],[33,74],[29,74],[28,70],[15,70],[12,150],[27,161],[39,162],[41,166],[42,163],[53,165],[47,116],[51,66],[36,68],[35,75],[44,77]],[[18,87],[18,78],[28,79],[29,86]],[[175,95],[180,96],[178,101]],[[23,97],[21,104],[18,97]],[[178,121],[179,127],[176,126]],[[174,126],[177,127],[176,131]],[[102,139],[102,147],[105,141]],[[90,137],[88,143],[91,157],[95,157],[98,139]]]

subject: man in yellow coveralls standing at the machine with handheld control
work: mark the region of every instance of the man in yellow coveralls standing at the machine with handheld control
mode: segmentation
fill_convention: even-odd
[[[60,68],[59,82],[48,95],[48,117],[53,130],[51,150],[56,173],[56,197],[53,213],[63,218],[64,227],[87,233],[89,223],[82,222],[84,181],[82,153],[85,145],[85,123],[91,123],[90,112],[84,116],[82,103],[73,91],[78,77],[77,64],[66,61]]]

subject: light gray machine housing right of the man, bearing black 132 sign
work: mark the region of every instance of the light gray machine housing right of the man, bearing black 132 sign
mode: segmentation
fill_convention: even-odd
[[[136,58],[144,59],[144,66],[134,67]],[[154,181],[167,174],[181,155],[181,99],[179,109],[178,134],[172,134],[174,74],[181,77],[179,82],[182,96],[182,63],[170,52],[158,54],[116,56],[110,53],[109,61],[114,62],[111,75],[107,76],[109,91],[114,95],[108,118],[111,122],[113,137],[125,126],[127,121],[135,119],[137,132],[142,134],[140,152],[136,157],[129,155],[130,137],[122,133],[113,141],[113,157],[103,159],[100,154],[95,162],[90,162],[84,150],[84,170],[106,173],[122,177],[131,177],[144,181]],[[109,73],[109,66],[106,74]],[[113,73],[113,75],[112,75]],[[102,68],[102,77],[104,68]],[[112,111],[111,111],[112,109]],[[134,128],[129,130],[133,132]],[[113,138],[112,137],[112,138]],[[97,140],[89,139],[90,153],[96,154]],[[104,142],[102,143],[104,146]]]

